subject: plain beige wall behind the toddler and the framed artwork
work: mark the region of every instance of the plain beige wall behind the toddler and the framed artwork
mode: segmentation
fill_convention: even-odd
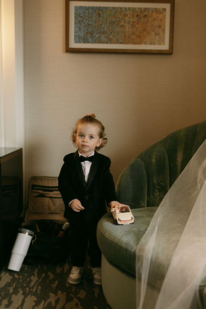
[[[58,176],[74,122],[96,114],[116,181],[168,133],[206,119],[205,0],[176,0],[173,55],[65,53],[65,0],[24,0],[26,180]]]

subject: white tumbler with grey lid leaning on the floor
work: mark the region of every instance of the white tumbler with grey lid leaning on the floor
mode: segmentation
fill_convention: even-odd
[[[33,235],[33,231],[19,228],[14,247],[11,251],[11,258],[9,261],[8,269],[19,271],[23,260],[27,255],[27,251]]]

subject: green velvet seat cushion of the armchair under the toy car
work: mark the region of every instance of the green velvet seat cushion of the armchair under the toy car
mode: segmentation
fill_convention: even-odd
[[[104,256],[122,269],[136,276],[136,248],[145,234],[157,207],[132,210],[134,223],[116,225],[111,213],[98,223],[97,239]]]

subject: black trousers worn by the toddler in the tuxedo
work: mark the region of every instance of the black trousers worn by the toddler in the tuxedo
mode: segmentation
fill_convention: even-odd
[[[91,267],[101,267],[102,252],[97,243],[97,223],[85,222],[84,211],[79,213],[79,220],[69,221],[71,262],[73,266],[82,267],[86,260],[86,251],[90,256]]]

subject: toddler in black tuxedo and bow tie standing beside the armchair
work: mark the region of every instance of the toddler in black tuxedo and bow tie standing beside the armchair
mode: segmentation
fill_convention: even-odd
[[[94,283],[101,285],[101,251],[96,229],[99,219],[107,212],[107,205],[119,205],[111,160],[97,151],[107,142],[103,124],[95,115],[79,119],[72,132],[72,141],[78,147],[75,153],[64,157],[59,174],[59,191],[65,204],[64,217],[70,226],[71,262],[70,284],[81,282],[86,250],[94,275]],[[89,242],[89,247],[88,247]]]

